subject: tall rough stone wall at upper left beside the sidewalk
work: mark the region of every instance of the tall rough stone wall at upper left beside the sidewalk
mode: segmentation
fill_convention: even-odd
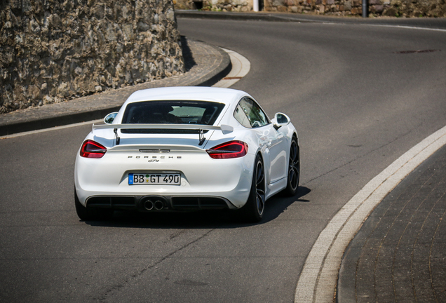
[[[0,113],[182,72],[171,0],[0,1]]]

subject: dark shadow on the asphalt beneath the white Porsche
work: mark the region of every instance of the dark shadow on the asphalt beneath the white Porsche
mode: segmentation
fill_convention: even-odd
[[[234,210],[201,210],[191,213],[138,213],[136,211],[115,211],[107,221],[85,221],[93,227],[120,227],[143,229],[233,229],[265,224],[279,217],[295,203],[309,203],[304,199],[311,189],[299,187],[297,194],[287,197],[281,193],[266,201],[262,221],[243,222],[243,217]]]

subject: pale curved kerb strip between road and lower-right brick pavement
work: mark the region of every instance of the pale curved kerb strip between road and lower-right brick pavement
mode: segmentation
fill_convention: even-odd
[[[334,215],[311,249],[295,292],[295,302],[332,302],[342,255],[375,206],[409,173],[446,144],[446,126],[400,156]]]

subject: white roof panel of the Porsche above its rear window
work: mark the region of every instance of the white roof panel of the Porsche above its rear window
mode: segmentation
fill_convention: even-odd
[[[251,97],[242,90],[231,88],[213,88],[213,87],[167,87],[167,88],[147,88],[137,90],[130,95],[124,105],[133,102],[155,101],[155,100],[194,100],[220,102],[229,105],[238,102],[242,97]]]

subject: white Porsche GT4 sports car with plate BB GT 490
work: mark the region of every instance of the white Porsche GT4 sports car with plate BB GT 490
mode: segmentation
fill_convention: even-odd
[[[76,157],[81,220],[115,209],[231,209],[258,222],[265,201],[299,186],[299,139],[285,114],[273,119],[248,93],[228,88],[139,90]]]

